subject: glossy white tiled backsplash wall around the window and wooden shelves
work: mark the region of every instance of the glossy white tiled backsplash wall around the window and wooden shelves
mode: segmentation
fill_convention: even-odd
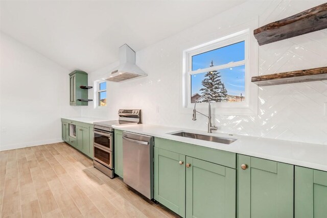
[[[323,4],[323,1],[247,2],[193,28],[136,53],[148,77],[124,83],[108,82],[109,107],[82,109],[82,115],[117,118],[120,108],[140,108],[143,123],[206,130],[207,119],[179,113],[180,47],[213,40],[241,22],[258,19],[259,26]],[[101,79],[113,64],[90,74]],[[259,47],[259,75],[327,66],[327,30]],[[327,81],[259,88],[258,116],[215,115],[220,132],[327,144]]]

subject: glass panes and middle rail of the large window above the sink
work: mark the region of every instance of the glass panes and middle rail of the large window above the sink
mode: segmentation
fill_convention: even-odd
[[[190,59],[191,103],[245,101],[245,41]]]

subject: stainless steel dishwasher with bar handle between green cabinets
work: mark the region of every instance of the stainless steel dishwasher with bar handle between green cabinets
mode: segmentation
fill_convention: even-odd
[[[153,137],[123,132],[124,182],[153,199]]]

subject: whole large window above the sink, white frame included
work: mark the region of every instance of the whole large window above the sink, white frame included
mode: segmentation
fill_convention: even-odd
[[[218,108],[216,114],[258,113],[258,86],[251,84],[251,77],[258,75],[258,43],[249,32],[229,33],[183,50],[183,112],[190,113],[195,103],[207,108],[210,101]]]

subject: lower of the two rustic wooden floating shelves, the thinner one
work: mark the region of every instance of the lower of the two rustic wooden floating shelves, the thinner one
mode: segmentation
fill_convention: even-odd
[[[251,82],[259,86],[270,86],[318,80],[327,80],[327,67],[303,69],[291,72],[281,72],[279,74],[252,77]]]

